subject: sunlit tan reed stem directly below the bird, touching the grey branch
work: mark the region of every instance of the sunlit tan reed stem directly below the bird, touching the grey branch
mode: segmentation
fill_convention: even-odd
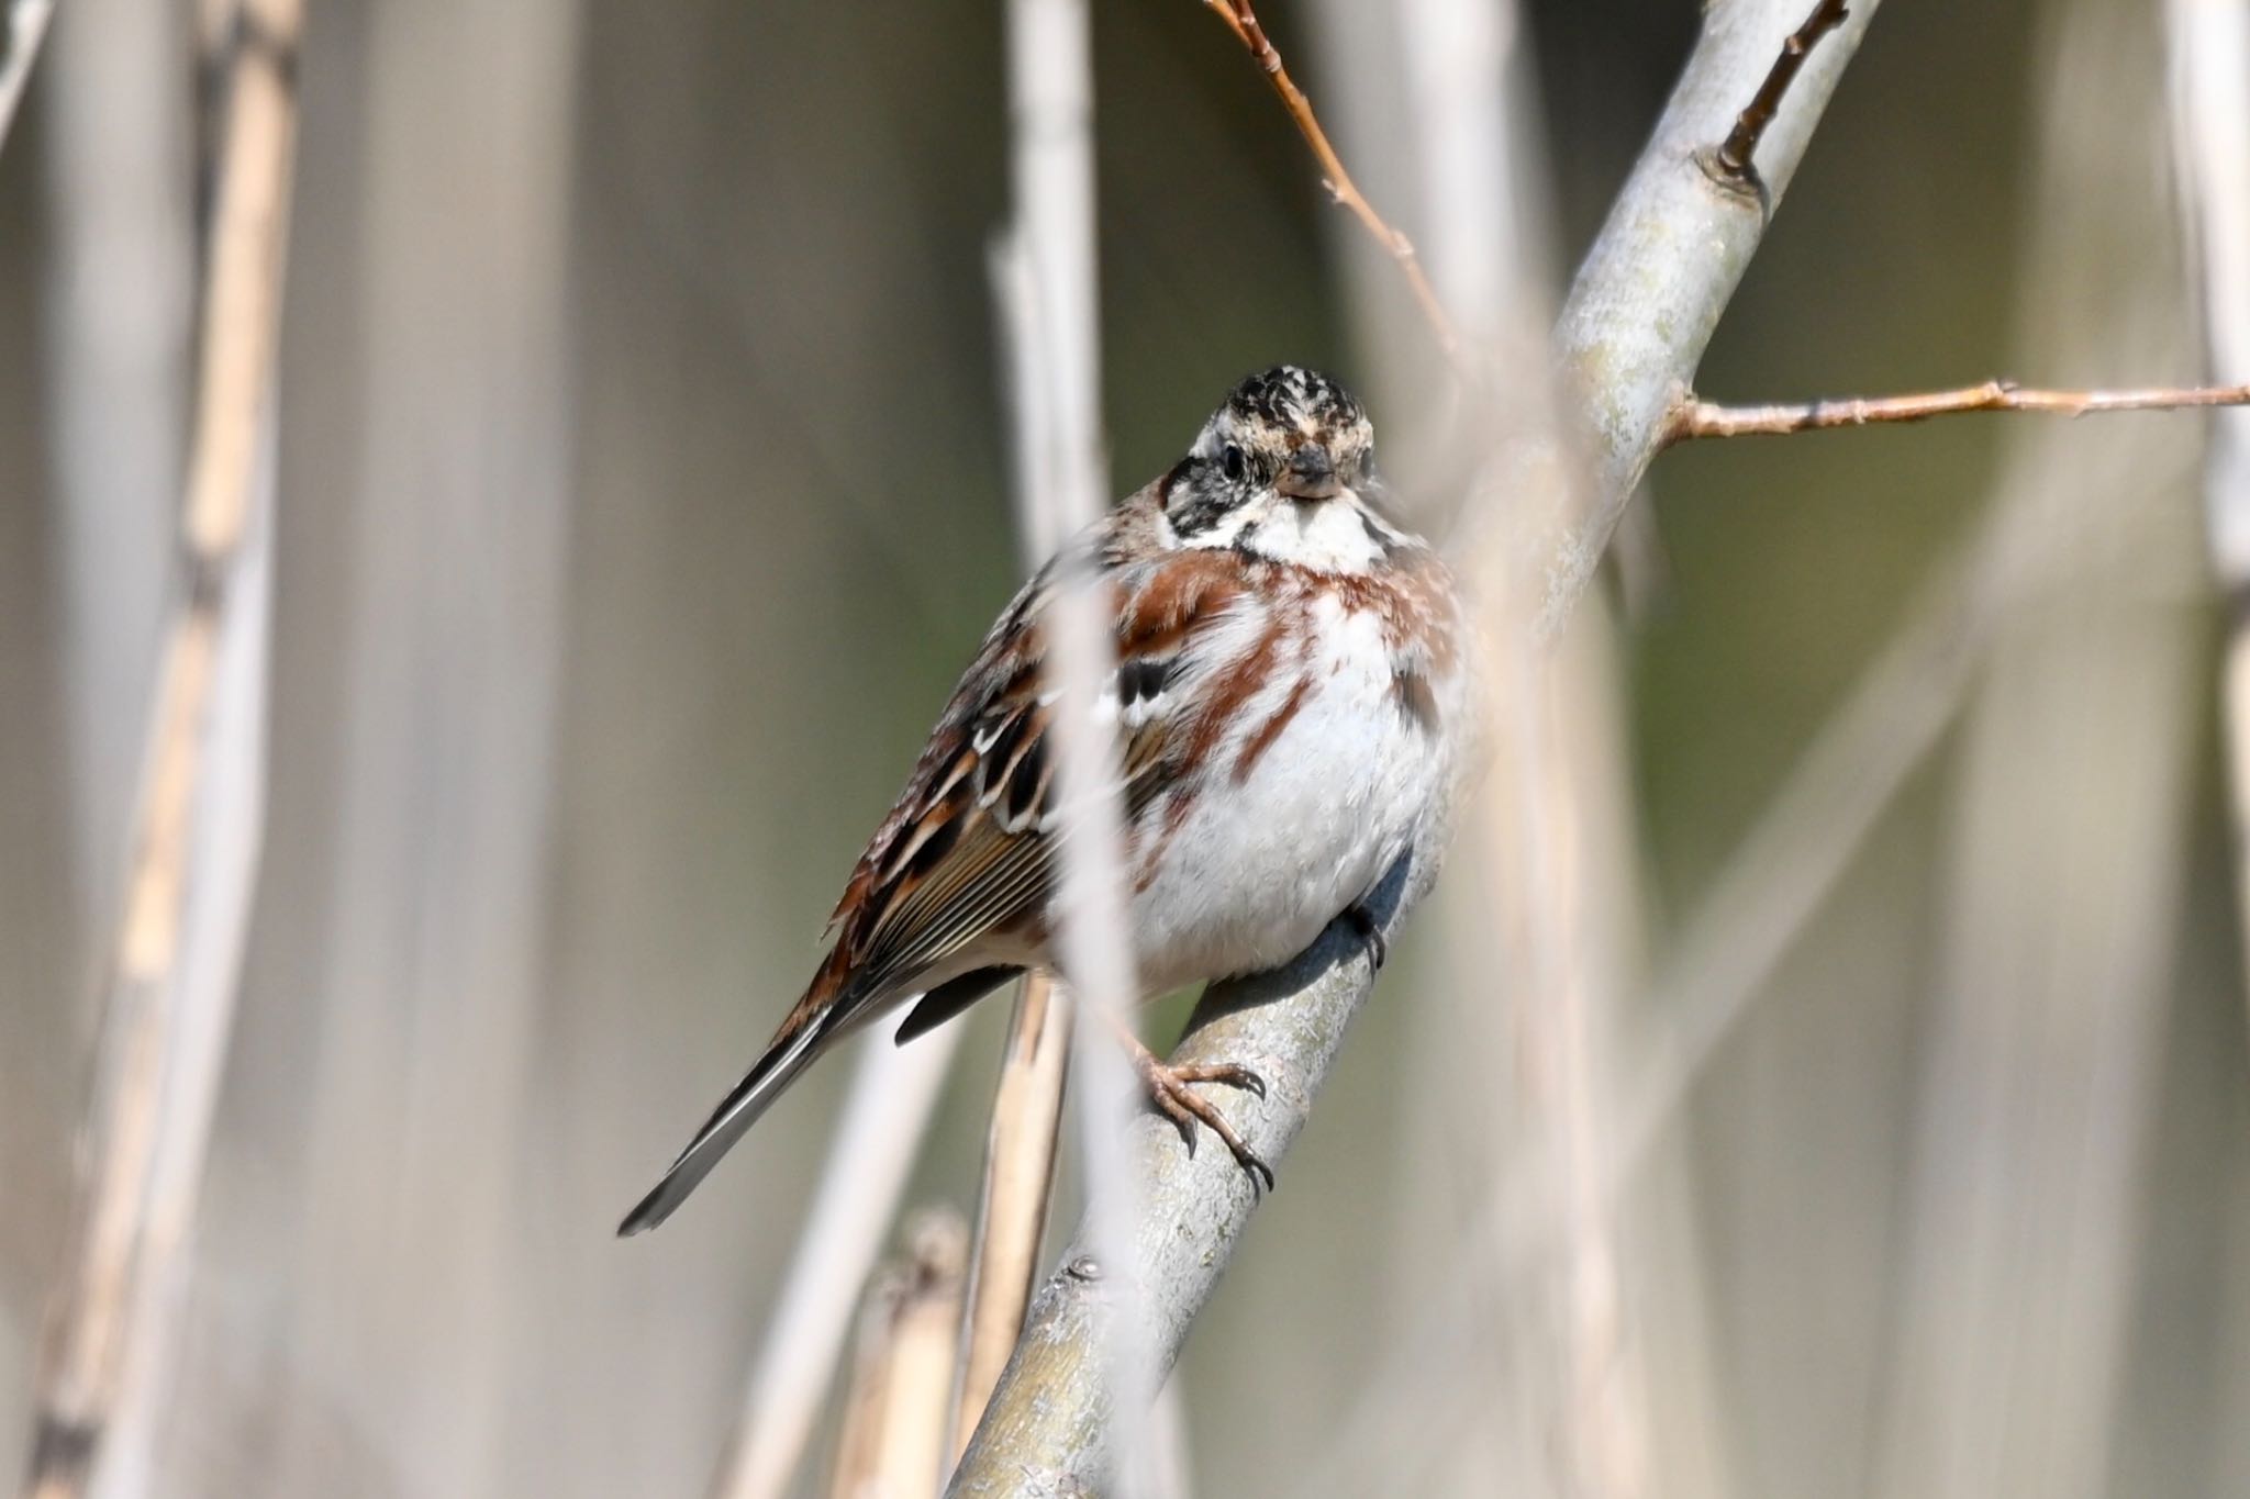
[[[999,1371],[1024,1330],[1030,1283],[1040,1270],[1040,1238],[1055,1182],[1055,1142],[1062,1133],[1062,1083],[1071,1059],[1071,1002],[1048,975],[1024,978],[1008,1025],[986,1144],[983,1196],[976,1209],[976,1252],[970,1256],[968,1306],[961,1333],[961,1378],[954,1402],[952,1459],[976,1432]]]

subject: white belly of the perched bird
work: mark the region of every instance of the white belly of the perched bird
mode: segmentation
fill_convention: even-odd
[[[1375,616],[1323,600],[1305,672],[1303,706],[1238,782],[1242,751],[1303,672],[1276,672],[1253,697],[1134,897],[1148,993],[1296,957],[1375,888],[1438,800],[1447,746],[1402,703]],[[1451,706],[1440,701],[1442,719]]]

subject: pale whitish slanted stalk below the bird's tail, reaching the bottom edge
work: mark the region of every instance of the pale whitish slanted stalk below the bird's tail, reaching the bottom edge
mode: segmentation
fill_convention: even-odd
[[[711,1481],[716,1499],[776,1499],[796,1477],[853,1301],[898,1211],[958,1043],[954,1027],[911,1047],[893,1047],[889,1036],[860,1043],[819,1196],[774,1292],[774,1319]]]

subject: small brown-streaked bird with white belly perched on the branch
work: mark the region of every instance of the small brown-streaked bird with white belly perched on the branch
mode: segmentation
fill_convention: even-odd
[[[1107,593],[1127,921],[1145,993],[1276,969],[1361,901],[1442,802],[1469,717],[1467,638],[1438,553],[1388,519],[1375,427],[1341,384],[1238,384],[1188,456],[1024,584],[860,854],[832,946],[758,1063],[619,1225],[673,1214],[821,1052],[914,1002],[907,1043],[1024,969],[1053,966],[1055,773],[1042,618],[1069,571]],[[1123,1036],[1152,1101],[1271,1182],[1190,1083]]]

